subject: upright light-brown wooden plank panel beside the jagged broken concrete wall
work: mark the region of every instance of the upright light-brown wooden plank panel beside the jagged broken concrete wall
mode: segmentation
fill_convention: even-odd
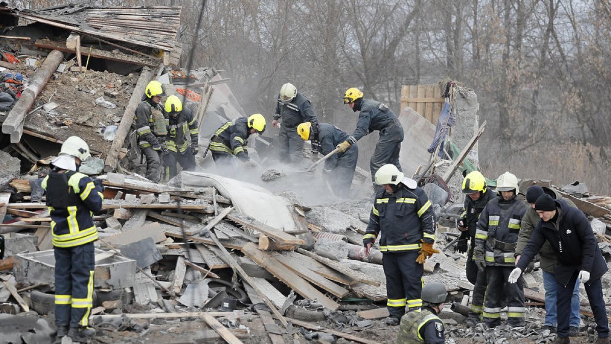
[[[401,112],[410,107],[427,121],[437,124],[445,99],[439,84],[403,85],[401,87]]]

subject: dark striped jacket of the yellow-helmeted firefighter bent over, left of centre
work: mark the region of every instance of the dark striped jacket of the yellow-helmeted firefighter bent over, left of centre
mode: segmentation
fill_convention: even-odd
[[[251,136],[251,132],[247,121],[248,118],[240,117],[221,125],[212,136],[210,150],[236,155],[244,162],[250,160],[246,140]]]

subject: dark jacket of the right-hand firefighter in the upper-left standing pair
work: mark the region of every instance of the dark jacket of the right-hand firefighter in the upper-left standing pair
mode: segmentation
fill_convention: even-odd
[[[197,129],[197,119],[193,116],[191,109],[184,108],[177,116],[168,117],[167,149],[175,153],[184,153],[189,146],[197,146],[199,129]]]

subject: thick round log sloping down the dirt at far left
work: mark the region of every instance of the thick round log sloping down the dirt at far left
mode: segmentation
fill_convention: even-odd
[[[27,110],[32,107],[38,94],[45,88],[51,75],[57,70],[59,64],[64,61],[64,54],[59,50],[53,50],[45,59],[45,62],[38,68],[38,71],[31,78],[29,85],[21,97],[15,103],[13,110],[10,110],[7,118],[2,124],[2,132],[11,135],[10,142],[17,143],[21,140],[23,133],[23,122],[26,120]]]

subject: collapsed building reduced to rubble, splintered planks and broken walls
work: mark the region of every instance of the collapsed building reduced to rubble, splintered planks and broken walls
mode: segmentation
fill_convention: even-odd
[[[202,152],[214,130],[246,115],[222,70],[178,67],[180,12],[88,4],[20,10],[0,2],[0,72],[10,90],[10,104],[0,110],[2,340],[53,339],[54,257],[40,178],[60,144],[77,135],[94,155],[81,171],[106,187],[103,212],[94,217],[101,239],[92,310],[104,342],[393,342],[397,328],[380,321],[387,316],[381,252],[360,252],[371,209],[368,171],[357,168],[353,199],[340,201],[325,196],[328,186],[316,182],[316,171],[274,165],[274,138],[261,136],[252,148],[260,161],[269,159],[268,171],[227,178],[200,154],[199,171],[183,171],[167,185],[141,177],[130,128],[148,81],[163,83],[196,114]],[[169,25],[155,34],[143,31],[142,20]],[[448,342],[551,340],[554,334],[538,331],[545,299],[536,264],[524,275],[527,327],[462,324],[473,285],[464,255],[453,250],[455,221],[461,172],[478,168],[485,121],[480,125],[474,90],[454,82],[403,91],[401,164],[435,204],[441,253],[426,261],[424,279],[450,292],[452,309],[441,314]],[[533,184],[553,187],[523,180],[521,189]],[[591,218],[608,260],[611,198],[579,183],[557,189]],[[604,277],[604,290],[610,283]],[[590,323],[584,318],[585,336],[595,333]]]

